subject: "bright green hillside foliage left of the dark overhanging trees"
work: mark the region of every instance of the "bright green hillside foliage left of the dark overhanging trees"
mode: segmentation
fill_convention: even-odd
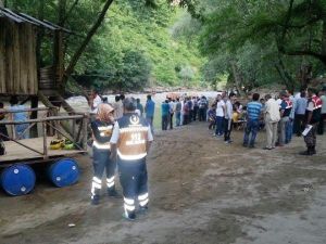
[[[74,31],[65,39],[71,62],[96,21],[103,0],[8,0],[15,11],[45,18]],[[183,10],[166,0],[115,0],[74,67],[71,78],[87,87],[139,90],[146,86],[198,86],[201,57],[197,43],[173,37]],[[52,39],[41,37],[40,65],[52,63]]]

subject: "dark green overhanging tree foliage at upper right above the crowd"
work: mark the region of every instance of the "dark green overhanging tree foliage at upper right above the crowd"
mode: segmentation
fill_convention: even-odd
[[[238,89],[266,84],[294,89],[325,74],[325,0],[175,2],[190,5],[191,22],[201,24],[197,35],[212,84],[227,74]]]

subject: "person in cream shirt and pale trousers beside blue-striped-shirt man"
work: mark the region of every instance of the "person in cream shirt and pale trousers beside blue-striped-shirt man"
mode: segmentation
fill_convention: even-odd
[[[279,105],[275,99],[272,99],[271,94],[265,95],[265,127],[267,136],[267,144],[265,150],[275,149],[275,143],[277,141],[277,125],[280,119]]]

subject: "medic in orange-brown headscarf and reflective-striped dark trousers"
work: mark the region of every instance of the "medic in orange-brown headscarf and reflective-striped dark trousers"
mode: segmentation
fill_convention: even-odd
[[[100,202],[102,176],[106,171],[106,191],[109,196],[118,197],[114,175],[116,163],[110,159],[110,139],[114,125],[114,110],[109,104],[99,104],[97,118],[90,124],[92,130],[93,177],[91,183],[91,204]]]

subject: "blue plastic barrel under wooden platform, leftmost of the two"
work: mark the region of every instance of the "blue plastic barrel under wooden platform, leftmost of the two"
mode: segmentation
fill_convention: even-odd
[[[12,165],[1,172],[1,187],[10,195],[25,195],[35,187],[35,172],[24,164]]]

